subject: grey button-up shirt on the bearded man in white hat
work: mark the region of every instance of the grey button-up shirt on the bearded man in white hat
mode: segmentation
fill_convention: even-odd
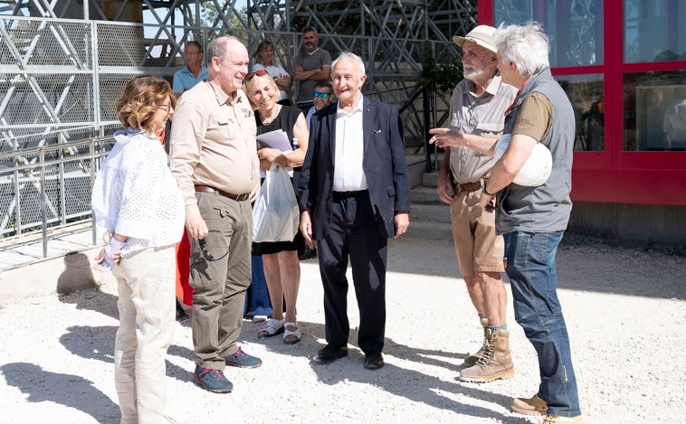
[[[450,116],[457,113],[460,131],[481,137],[498,138],[505,125],[505,110],[517,97],[517,89],[502,82],[499,75],[477,96],[474,83],[464,79],[453,90]],[[475,183],[495,163],[492,156],[482,155],[469,147],[450,148],[450,168],[457,184]]]

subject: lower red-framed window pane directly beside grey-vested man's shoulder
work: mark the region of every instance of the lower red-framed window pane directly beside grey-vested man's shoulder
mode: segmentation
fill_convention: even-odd
[[[605,90],[603,75],[555,77],[567,93],[576,118],[575,150],[605,149]]]

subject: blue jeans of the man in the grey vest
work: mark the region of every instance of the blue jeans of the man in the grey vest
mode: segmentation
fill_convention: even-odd
[[[555,254],[562,233],[514,231],[503,237],[515,318],[538,353],[538,397],[548,403],[548,414],[576,417],[576,377],[557,299]]]

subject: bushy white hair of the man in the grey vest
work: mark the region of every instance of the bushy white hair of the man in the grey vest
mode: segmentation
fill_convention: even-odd
[[[500,61],[513,61],[522,77],[528,77],[550,66],[548,36],[537,22],[507,26],[501,24],[493,38]]]

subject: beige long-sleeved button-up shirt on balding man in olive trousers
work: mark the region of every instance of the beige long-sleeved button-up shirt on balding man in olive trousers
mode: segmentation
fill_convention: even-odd
[[[181,96],[172,121],[171,159],[186,220],[200,216],[196,184],[233,194],[250,193],[259,184],[256,131],[243,90],[232,97],[205,80]]]

